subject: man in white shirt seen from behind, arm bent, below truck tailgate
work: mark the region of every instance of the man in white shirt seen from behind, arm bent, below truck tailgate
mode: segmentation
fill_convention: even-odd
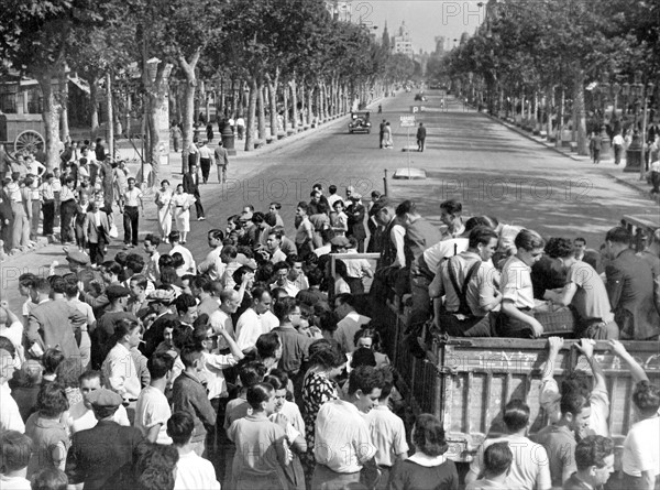
[[[529,405],[522,400],[514,399],[506,404],[503,420],[508,434],[484,440],[470,465],[470,472],[465,476],[466,483],[488,473],[487,450],[495,444],[505,443],[513,448],[514,453],[506,488],[548,490],[551,487],[548,453],[543,446],[527,438],[530,425],[529,412]]]

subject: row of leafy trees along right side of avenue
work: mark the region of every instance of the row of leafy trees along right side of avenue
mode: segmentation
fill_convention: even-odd
[[[641,72],[638,84],[644,91],[648,92],[648,83],[658,88],[657,1],[490,0],[485,8],[485,21],[476,33],[461,37],[437,69],[464,85],[483,84],[491,112],[502,109],[506,100],[519,108],[531,100],[535,120],[550,124],[550,115],[559,110],[561,127],[563,104],[553,107],[553,101],[565,94],[572,101],[579,151],[587,154],[587,87],[592,89],[594,81],[635,83],[635,73]]]

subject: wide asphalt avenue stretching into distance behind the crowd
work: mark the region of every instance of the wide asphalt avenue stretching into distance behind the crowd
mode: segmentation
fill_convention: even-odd
[[[462,105],[452,102],[447,111],[441,111],[438,92],[431,90],[427,95],[428,101],[422,104],[427,110],[416,115],[417,122],[427,127],[424,153],[402,151],[408,141],[399,117],[410,115],[410,106],[420,104],[414,102],[413,92],[384,99],[383,115],[372,111],[371,134],[349,134],[348,119],[341,118],[274,151],[233,159],[228,185],[207,184],[201,188],[207,221],[193,221],[190,250],[196,258],[202,258],[207,250],[206,231],[224,228],[227,217],[239,214],[246,204],[264,210],[272,200],[282,203],[282,215],[292,233],[296,204],[309,200],[316,182],[326,188],[336,184],[342,194],[345,186],[353,185],[367,199],[371,190],[383,190],[384,171],[392,176],[408,165],[408,156],[413,167],[426,171],[427,178],[388,179],[388,194],[395,200],[414,199],[421,214],[433,222],[439,222],[440,202],[455,198],[463,203],[468,216],[495,216],[547,237],[580,236],[586,238],[590,247],[597,248],[622,216],[657,213],[639,193],[606,175],[605,165],[614,166],[613,163],[595,166],[575,162],[473,109],[464,111]],[[377,127],[382,118],[393,127],[393,150],[378,149]],[[409,143],[415,144],[415,128],[410,129]],[[176,164],[172,166],[178,168]],[[147,210],[145,218],[141,233],[155,231],[155,211]],[[119,215],[116,221],[121,222]],[[120,247],[119,242],[111,246],[109,255]],[[2,264],[3,297],[14,311],[20,311],[20,273],[45,271],[55,259],[64,262],[62,248],[48,246]]]

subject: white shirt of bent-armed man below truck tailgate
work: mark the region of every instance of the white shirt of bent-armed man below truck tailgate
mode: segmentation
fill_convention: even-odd
[[[495,443],[507,443],[514,455],[512,470],[506,480],[507,489],[547,490],[552,486],[546,448],[527,437],[516,435],[484,440],[470,465],[472,473],[481,475],[484,467],[484,451]]]

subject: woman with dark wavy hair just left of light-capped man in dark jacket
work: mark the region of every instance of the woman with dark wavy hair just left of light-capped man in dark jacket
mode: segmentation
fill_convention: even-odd
[[[28,465],[28,478],[44,466],[64,470],[69,437],[62,415],[69,409],[64,386],[59,383],[42,384],[36,399],[38,412],[25,423],[25,435],[32,439],[33,451]]]

